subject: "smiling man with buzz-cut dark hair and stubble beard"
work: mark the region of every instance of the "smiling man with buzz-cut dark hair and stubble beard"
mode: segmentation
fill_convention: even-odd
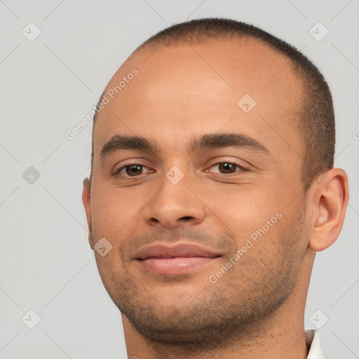
[[[83,181],[128,358],[323,358],[304,307],[348,201],[334,142],[323,76],[257,27],[193,20],[130,55]]]

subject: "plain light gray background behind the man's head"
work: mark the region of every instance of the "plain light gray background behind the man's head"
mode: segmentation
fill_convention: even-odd
[[[65,133],[144,39],[211,16],[305,46],[330,84],[335,161],[348,173],[351,198],[338,241],[316,256],[305,320],[307,329],[321,327],[326,359],[359,358],[358,0],[0,1],[0,358],[126,358],[121,316],[97,272],[81,203],[92,123],[74,140]],[[22,34],[36,34],[29,22],[41,29],[34,41]],[[329,30],[321,41],[309,33],[317,22]],[[29,309],[41,317],[34,329]]]

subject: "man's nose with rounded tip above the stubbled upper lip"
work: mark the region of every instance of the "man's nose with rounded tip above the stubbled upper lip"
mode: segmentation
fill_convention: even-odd
[[[151,226],[167,228],[200,224],[206,215],[206,206],[200,198],[186,176],[177,184],[163,176],[156,195],[142,210],[143,219]]]

